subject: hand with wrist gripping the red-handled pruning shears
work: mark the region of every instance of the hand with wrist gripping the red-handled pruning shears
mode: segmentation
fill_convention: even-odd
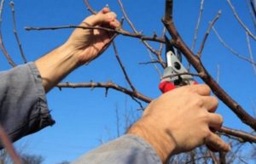
[[[213,113],[218,100],[210,92],[207,85],[193,85],[162,94],[128,133],[145,139],[163,162],[201,144],[228,151],[230,146],[211,131],[222,126],[223,118]]]

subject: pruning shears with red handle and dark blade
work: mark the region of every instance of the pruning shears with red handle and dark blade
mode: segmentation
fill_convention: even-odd
[[[162,93],[166,93],[181,86],[197,84],[193,76],[189,75],[189,71],[183,66],[181,52],[177,48],[174,48],[167,37],[166,64],[167,66],[159,85]]]

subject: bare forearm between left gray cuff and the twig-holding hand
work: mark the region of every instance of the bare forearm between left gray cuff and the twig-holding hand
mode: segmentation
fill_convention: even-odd
[[[79,60],[75,55],[75,51],[69,48],[67,44],[63,44],[36,60],[35,65],[38,67],[44,90],[47,93],[68,73],[79,66]]]

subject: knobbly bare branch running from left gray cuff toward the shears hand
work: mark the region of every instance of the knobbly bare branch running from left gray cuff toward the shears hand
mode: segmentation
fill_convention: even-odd
[[[114,90],[117,90],[119,92],[125,93],[127,95],[130,95],[131,97],[140,99],[144,101],[145,103],[149,103],[152,101],[152,99],[148,98],[147,96],[143,95],[142,93],[134,93],[133,91],[121,87],[113,82],[83,82],[83,83],[59,83],[57,88],[112,88]]]

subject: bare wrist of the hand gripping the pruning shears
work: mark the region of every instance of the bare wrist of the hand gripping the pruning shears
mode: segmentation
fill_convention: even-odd
[[[128,134],[136,135],[144,139],[150,144],[163,163],[165,163],[169,156],[171,156],[175,150],[174,139],[170,138],[167,132],[161,133],[159,129],[154,128],[148,118],[145,116],[136,122],[127,132]]]

